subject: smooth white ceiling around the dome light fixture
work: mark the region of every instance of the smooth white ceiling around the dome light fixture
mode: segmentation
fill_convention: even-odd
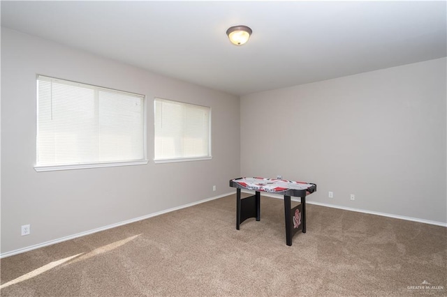
[[[1,1],[1,25],[244,95],[446,56],[446,3]]]

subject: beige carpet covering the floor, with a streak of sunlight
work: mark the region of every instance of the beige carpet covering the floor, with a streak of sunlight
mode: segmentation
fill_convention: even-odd
[[[235,229],[235,195],[1,259],[1,296],[447,295],[447,229],[282,199]]]

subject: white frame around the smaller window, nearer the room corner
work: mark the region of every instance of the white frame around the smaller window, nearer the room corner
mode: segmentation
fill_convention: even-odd
[[[210,114],[208,116],[208,155],[201,157],[180,157],[180,158],[156,158],[155,157],[155,146],[156,146],[156,100],[165,100],[171,102],[177,102],[182,105],[193,105],[198,107],[206,107],[210,110]],[[191,161],[203,161],[203,160],[212,160],[212,107],[205,105],[198,105],[189,102],[183,102],[179,100],[171,100],[161,97],[154,97],[154,163],[155,164],[163,164],[163,163],[173,163],[173,162],[191,162]]]

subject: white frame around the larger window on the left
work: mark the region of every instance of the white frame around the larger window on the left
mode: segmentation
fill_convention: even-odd
[[[142,159],[141,160],[124,160],[124,161],[105,161],[105,162],[89,162],[82,164],[71,164],[71,165],[38,165],[38,118],[39,118],[39,99],[38,99],[38,79],[39,77],[46,77],[50,79],[59,79],[64,82],[71,82],[74,84],[80,84],[85,86],[91,86],[93,88],[105,89],[117,93],[126,93],[132,96],[142,97]],[[71,170],[71,169],[89,169],[89,168],[103,168],[103,167],[120,167],[120,166],[131,166],[131,165],[147,165],[149,162],[147,158],[147,98],[145,95],[140,93],[134,93],[129,91],[122,91],[118,89],[112,89],[105,86],[98,86],[95,84],[87,84],[84,82],[77,82],[71,79],[61,79],[58,77],[52,77],[48,75],[36,74],[36,163],[34,165],[34,170],[36,172],[51,172],[59,170]]]

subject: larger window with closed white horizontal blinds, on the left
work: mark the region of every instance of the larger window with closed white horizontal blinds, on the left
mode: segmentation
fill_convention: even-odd
[[[37,77],[36,171],[147,164],[145,97]]]

